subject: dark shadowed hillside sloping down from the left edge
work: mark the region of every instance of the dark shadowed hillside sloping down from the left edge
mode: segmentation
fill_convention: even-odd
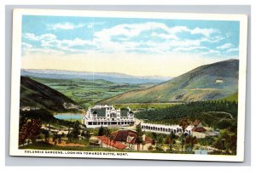
[[[20,108],[45,108],[49,111],[78,111],[79,105],[64,94],[38,83],[29,77],[20,77]]]

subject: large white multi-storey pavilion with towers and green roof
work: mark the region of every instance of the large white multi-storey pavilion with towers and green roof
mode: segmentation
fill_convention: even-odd
[[[95,105],[86,111],[82,124],[87,128],[129,126],[134,124],[134,113],[129,107],[114,109],[113,105]]]

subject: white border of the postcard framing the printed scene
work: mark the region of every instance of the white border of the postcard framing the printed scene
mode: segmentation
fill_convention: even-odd
[[[125,152],[127,156],[112,155],[81,155],[45,153],[44,150],[18,149],[19,107],[20,107],[20,61],[21,61],[21,25],[22,15],[55,15],[55,16],[95,16],[115,18],[150,18],[150,19],[186,19],[186,20],[237,20],[240,21],[239,47],[239,90],[238,90],[238,124],[237,124],[237,154],[224,155],[190,155],[166,153]],[[246,64],[247,64],[247,15],[245,14],[189,14],[189,13],[160,13],[160,12],[122,12],[122,11],[87,11],[87,10],[54,10],[54,9],[15,9],[13,17],[12,43],[12,78],[11,78],[11,117],[10,117],[10,146],[11,156],[30,157],[93,157],[121,159],[153,159],[153,160],[190,160],[190,161],[223,161],[242,162],[244,160],[245,106],[246,106]],[[44,151],[42,153],[26,153],[26,151]],[[89,151],[80,151],[86,153]],[[90,151],[106,152],[106,151]]]

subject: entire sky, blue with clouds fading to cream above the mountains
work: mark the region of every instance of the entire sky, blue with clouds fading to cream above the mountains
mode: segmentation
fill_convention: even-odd
[[[239,21],[22,16],[21,68],[177,77],[238,59]]]

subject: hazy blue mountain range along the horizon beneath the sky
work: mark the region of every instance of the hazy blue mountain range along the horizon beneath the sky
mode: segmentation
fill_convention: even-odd
[[[113,83],[162,83],[171,77],[136,77],[121,73],[108,72],[89,72],[89,71],[61,71],[61,70],[21,70],[21,76],[41,77],[51,79],[86,79],[86,80],[105,80]]]

